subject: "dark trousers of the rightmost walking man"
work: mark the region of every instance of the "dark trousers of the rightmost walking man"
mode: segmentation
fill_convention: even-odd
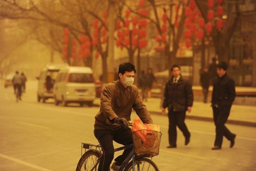
[[[212,107],[213,120],[216,126],[216,137],[214,145],[218,145],[219,147],[222,145],[223,136],[226,137],[229,141],[232,140],[235,136],[235,134],[231,133],[225,126],[230,113],[230,108],[231,106],[223,106],[222,108],[216,108],[215,106]]]

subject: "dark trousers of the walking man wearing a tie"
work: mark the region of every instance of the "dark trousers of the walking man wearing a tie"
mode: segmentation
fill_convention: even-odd
[[[177,141],[177,130],[176,126],[182,131],[185,138],[188,138],[190,136],[190,133],[188,131],[188,128],[185,124],[185,116],[186,111],[173,111],[172,109],[168,112],[169,117],[169,144],[176,146]]]

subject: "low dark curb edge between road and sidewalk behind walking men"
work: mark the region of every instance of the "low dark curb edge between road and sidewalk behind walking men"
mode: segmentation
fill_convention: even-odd
[[[153,115],[163,115],[161,112],[155,112],[155,111],[149,111],[149,113],[153,114]],[[186,115],[186,119],[213,122],[213,118],[203,117],[203,116]],[[233,125],[242,125],[242,126],[256,127],[256,123],[254,123],[254,122],[247,122],[247,121],[228,120],[226,123],[233,124]]]

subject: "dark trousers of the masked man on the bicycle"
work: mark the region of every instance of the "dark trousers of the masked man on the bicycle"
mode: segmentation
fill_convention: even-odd
[[[103,158],[100,160],[98,171],[109,170],[114,158],[113,140],[122,145],[133,144],[132,130],[127,127],[115,130],[94,130],[94,136],[98,139],[103,150]],[[116,164],[120,166],[131,150],[132,148],[125,149],[123,154],[115,159]]]

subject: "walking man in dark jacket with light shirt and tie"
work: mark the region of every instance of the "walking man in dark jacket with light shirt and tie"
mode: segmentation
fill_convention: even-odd
[[[191,112],[193,91],[188,79],[181,76],[179,65],[173,65],[171,71],[172,77],[165,84],[162,113],[165,113],[165,108],[168,107],[169,146],[167,148],[176,148],[176,126],[178,126],[185,137],[185,145],[188,145],[190,141],[190,132],[185,124],[185,116],[187,110]]]

